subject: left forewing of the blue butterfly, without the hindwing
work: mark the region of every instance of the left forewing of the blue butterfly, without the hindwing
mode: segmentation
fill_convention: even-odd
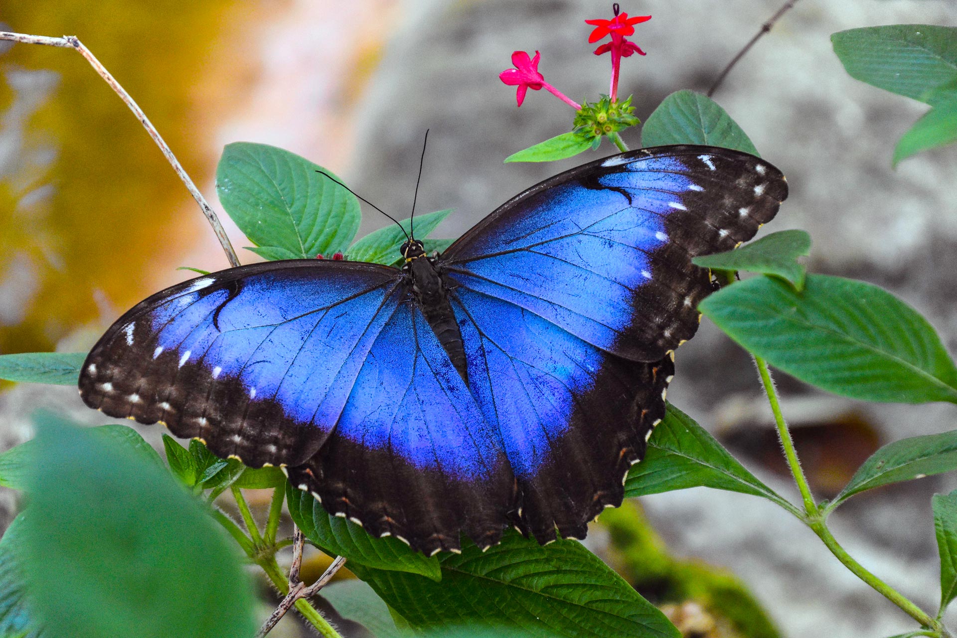
[[[87,356],[90,407],[165,423],[247,465],[319,450],[394,310],[398,272],[283,261],[173,286],[118,319]],[[388,307],[391,303],[392,307]]]

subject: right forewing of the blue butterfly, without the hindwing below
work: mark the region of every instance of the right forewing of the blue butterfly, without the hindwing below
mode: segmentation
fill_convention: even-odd
[[[707,271],[787,197],[781,172],[725,148],[661,146],[546,180],[441,256],[462,286],[529,310],[609,352],[660,360],[698,329]]]

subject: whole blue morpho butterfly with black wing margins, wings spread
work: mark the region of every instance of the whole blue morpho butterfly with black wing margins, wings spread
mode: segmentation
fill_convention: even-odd
[[[710,146],[613,155],[512,198],[444,253],[241,266],[137,304],[90,352],[90,407],[162,422],[427,554],[515,526],[584,538],[664,416],[674,348],[788,194]]]

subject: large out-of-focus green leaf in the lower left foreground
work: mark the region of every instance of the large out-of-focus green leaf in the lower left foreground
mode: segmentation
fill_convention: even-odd
[[[50,416],[34,441],[16,553],[52,634],[255,633],[253,586],[232,541],[165,469]]]

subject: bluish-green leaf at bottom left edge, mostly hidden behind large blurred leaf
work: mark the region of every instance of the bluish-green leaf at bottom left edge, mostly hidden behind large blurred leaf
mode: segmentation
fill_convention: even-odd
[[[16,546],[23,542],[21,513],[13,519],[0,539],[0,636],[46,638],[46,630],[36,621],[29,596],[24,592],[23,569]]]

